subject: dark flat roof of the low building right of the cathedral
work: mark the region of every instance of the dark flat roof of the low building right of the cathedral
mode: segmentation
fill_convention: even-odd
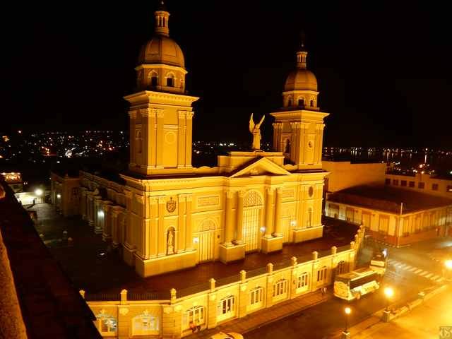
[[[400,213],[401,203],[402,213],[452,205],[451,199],[388,186],[350,187],[331,194],[328,201],[397,214]]]

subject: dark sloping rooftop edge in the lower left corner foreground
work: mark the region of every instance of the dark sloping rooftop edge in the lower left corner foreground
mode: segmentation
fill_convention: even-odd
[[[8,185],[0,186],[6,192],[0,199],[0,338],[102,338],[28,212]],[[26,336],[20,335],[24,325]]]

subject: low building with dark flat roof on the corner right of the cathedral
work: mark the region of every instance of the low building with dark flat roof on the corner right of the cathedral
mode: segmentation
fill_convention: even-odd
[[[364,225],[394,246],[448,234],[452,200],[388,186],[353,186],[328,194],[325,214]]]

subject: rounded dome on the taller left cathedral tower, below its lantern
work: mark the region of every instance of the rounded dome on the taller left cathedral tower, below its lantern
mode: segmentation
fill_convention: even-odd
[[[141,47],[138,62],[140,64],[167,64],[185,68],[181,47],[165,35],[155,35]]]

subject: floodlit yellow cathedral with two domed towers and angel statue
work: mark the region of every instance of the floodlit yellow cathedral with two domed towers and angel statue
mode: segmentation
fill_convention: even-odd
[[[249,151],[219,155],[216,167],[193,167],[198,97],[187,95],[184,53],[169,36],[162,6],[154,36],[139,53],[137,92],[124,97],[130,104],[128,171],[115,181],[84,171],[76,178],[52,173],[52,203],[64,215],[81,215],[143,277],[322,237],[328,114],[319,109],[307,57],[302,43],[283,105],[270,113],[272,152],[260,149],[260,126],[271,118],[256,123],[251,116]]]

